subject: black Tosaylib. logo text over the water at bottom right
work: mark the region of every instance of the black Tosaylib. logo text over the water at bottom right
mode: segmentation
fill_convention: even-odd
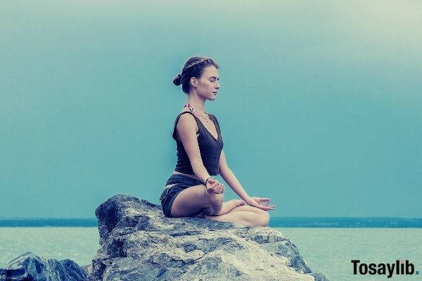
[[[409,263],[404,259],[401,261],[397,260],[395,263],[361,263],[359,260],[354,259],[351,261],[353,263],[353,274],[357,275],[387,275],[388,278],[392,277],[393,274],[396,275],[418,275],[419,271],[415,271],[415,266],[413,263]]]

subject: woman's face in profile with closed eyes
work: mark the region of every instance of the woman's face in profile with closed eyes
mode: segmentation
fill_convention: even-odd
[[[218,70],[214,65],[208,65],[199,79],[196,79],[196,93],[207,100],[215,100],[219,89]]]

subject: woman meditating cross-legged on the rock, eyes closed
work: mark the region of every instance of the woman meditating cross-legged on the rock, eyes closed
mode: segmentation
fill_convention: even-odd
[[[188,103],[174,122],[177,164],[160,196],[162,209],[167,217],[199,216],[268,226],[268,211],[275,206],[269,206],[269,198],[249,197],[245,192],[226,163],[217,118],[205,112],[205,100],[215,100],[220,88],[218,68],[212,58],[196,56],[173,79],[188,94]],[[212,177],[217,174],[243,200],[223,202],[224,184]]]

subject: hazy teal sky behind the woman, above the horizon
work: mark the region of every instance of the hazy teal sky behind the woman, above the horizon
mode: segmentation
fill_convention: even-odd
[[[13,0],[0,23],[0,217],[159,204],[192,55],[271,216],[422,217],[421,1]]]

